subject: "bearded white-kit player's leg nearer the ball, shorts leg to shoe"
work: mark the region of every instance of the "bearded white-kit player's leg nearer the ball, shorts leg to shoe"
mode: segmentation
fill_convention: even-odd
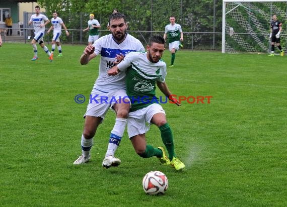
[[[102,163],[103,167],[106,168],[111,166],[116,167],[121,162],[120,159],[114,157],[114,154],[123,136],[127,114],[130,109],[130,100],[126,95],[125,90],[119,90],[116,93],[111,94],[109,102],[111,102],[111,109],[116,112],[116,120],[110,134],[108,149]]]

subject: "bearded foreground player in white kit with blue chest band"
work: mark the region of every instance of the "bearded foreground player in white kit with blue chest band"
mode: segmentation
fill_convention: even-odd
[[[86,163],[90,160],[90,150],[93,146],[93,137],[98,126],[109,108],[116,112],[115,125],[111,131],[108,149],[103,160],[103,167],[118,166],[121,161],[114,157],[123,136],[127,114],[130,109],[129,98],[125,90],[125,73],[117,76],[109,76],[107,71],[122,60],[125,54],[137,51],[145,52],[139,40],[126,33],[126,19],[121,13],[112,14],[109,18],[112,34],[99,38],[93,45],[88,45],[80,62],[85,65],[98,55],[101,55],[99,76],[92,89],[87,112],[85,126],[82,134],[82,155],[74,164]],[[104,99],[104,100],[103,100]]]

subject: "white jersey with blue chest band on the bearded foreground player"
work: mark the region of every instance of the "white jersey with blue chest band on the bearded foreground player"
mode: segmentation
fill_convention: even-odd
[[[143,45],[129,34],[126,35],[122,43],[118,44],[114,41],[112,34],[109,34],[99,38],[93,46],[95,47],[95,54],[101,54],[99,77],[94,84],[94,89],[103,92],[125,89],[125,72],[109,76],[107,71],[114,66],[113,62],[116,61],[117,54],[122,53],[125,56],[132,51],[145,52]]]

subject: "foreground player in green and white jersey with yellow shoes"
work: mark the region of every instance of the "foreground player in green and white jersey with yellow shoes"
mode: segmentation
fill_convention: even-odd
[[[162,164],[181,170],[185,165],[175,154],[173,133],[167,123],[165,111],[159,104],[159,98],[156,97],[157,85],[167,97],[173,99],[165,82],[166,63],[161,60],[164,50],[164,38],[159,35],[152,36],[147,52],[128,53],[123,61],[108,70],[108,74],[118,75],[119,72],[126,71],[126,92],[131,100],[127,132],[135,152],[143,158],[156,156]],[[173,102],[180,106],[178,101]],[[159,128],[168,157],[163,147],[154,148],[147,144],[145,133],[149,130],[151,123]]]

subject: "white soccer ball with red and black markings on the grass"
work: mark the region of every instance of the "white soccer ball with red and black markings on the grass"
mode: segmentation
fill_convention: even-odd
[[[149,195],[164,194],[168,188],[167,176],[160,171],[148,172],[142,179],[142,187]]]

